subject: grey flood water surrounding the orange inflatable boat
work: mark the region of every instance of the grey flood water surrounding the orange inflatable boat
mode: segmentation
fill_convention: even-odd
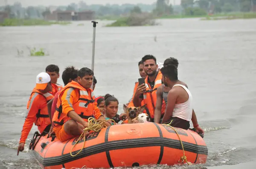
[[[114,95],[122,112],[139,78],[140,59],[145,54],[153,54],[159,62],[175,57],[180,63],[178,77],[188,84],[199,125],[205,130],[206,164],[157,168],[212,168],[256,161],[255,19],[172,19],[158,20],[160,26],[103,26],[109,22],[99,21],[96,28],[95,94]],[[40,169],[28,151],[35,126],[17,156],[26,103],[36,75],[47,65],[58,65],[60,74],[66,66],[91,67],[92,23],[82,23],[0,27],[1,169]],[[49,55],[31,57],[28,48],[33,47],[44,48]],[[63,85],[61,78],[58,83]]]

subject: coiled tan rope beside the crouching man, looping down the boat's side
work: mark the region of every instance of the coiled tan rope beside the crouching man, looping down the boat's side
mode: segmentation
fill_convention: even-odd
[[[85,139],[86,132],[88,132],[88,131],[99,132],[102,128],[108,127],[108,126],[105,125],[105,122],[108,122],[108,123],[111,124],[111,122],[109,122],[109,121],[112,121],[114,123],[113,125],[116,125],[116,122],[112,119],[110,119],[110,120],[96,120],[93,117],[88,118],[88,127],[84,128],[84,131],[80,135],[79,139],[76,141],[75,145],[70,150],[70,155],[72,157],[75,157],[76,155],[78,155],[84,149],[85,140],[86,140]],[[72,151],[73,151],[74,147],[79,142],[79,140],[82,136],[84,136],[84,145],[82,146],[82,148],[80,149],[80,151],[78,153],[76,153],[75,155],[72,155]]]

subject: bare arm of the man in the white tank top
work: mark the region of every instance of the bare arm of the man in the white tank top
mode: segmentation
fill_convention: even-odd
[[[166,123],[171,117],[178,97],[177,89],[171,89],[167,96],[167,107],[166,112],[163,115],[162,123]]]

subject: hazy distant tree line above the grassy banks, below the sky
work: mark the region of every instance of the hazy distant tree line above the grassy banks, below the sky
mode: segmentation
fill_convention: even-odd
[[[125,16],[131,12],[142,13],[151,12],[156,16],[184,14],[184,15],[205,15],[208,13],[229,13],[229,12],[249,12],[252,5],[256,5],[256,0],[181,0],[180,5],[173,6],[169,0],[156,0],[153,4],[107,4],[107,5],[87,5],[84,1],[70,3],[68,6],[56,6],[56,10],[66,11],[86,11],[92,10],[96,15],[101,16]],[[44,18],[49,14],[52,7],[29,6],[23,7],[17,2],[13,5],[0,6],[0,11],[7,11],[11,18]]]

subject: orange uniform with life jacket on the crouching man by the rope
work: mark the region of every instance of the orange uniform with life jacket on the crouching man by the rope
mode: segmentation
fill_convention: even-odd
[[[58,95],[57,108],[52,118],[53,131],[59,140],[65,141],[74,137],[68,135],[64,130],[63,124],[71,119],[67,116],[68,112],[74,110],[86,122],[88,122],[89,117],[99,119],[102,116],[94,99],[92,89],[85,89],[75,81],[68,83],[61,89]]]

